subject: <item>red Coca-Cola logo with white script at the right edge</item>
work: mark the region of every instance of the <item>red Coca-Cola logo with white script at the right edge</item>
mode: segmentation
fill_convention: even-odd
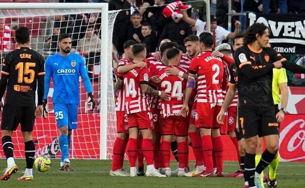
[[[305,159],[305,121],[297,119],[280,133],[280,155],[283,161]]]

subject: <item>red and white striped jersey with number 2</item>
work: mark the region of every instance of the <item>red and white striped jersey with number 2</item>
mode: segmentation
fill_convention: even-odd
[[[189,72],[197,74],[198,102],[211,103],[211,107],[222,105],[222,81],[224,63],[220,57],[212,57],[211,51],[206,51],[193,58]]]

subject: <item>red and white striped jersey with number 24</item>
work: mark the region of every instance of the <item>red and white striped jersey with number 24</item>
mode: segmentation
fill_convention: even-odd
[[[187,72],[184,68],[179,66],[176,67],[180,71]],[[163,117],[180,116],[187,80],[179,76],[168,75],[168,73],[165,72],[166,68],[167,67],[158,72],[161,80],[159,83],[159,90],[170,92],[171,97],[168,100],[159,100],[160,114]]]

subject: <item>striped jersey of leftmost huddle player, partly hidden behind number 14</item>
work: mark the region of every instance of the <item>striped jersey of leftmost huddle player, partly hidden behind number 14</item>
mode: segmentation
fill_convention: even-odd
[[[120,59],[117,62],[116,69],[117,69],[117,67],[127,65],[128,63],[131,63],[131,62],[127,59]],[[118,74],[117,72],[116,72],[116,77],[118,79],[124,80],[123,75]],[[121,89],[119,89],[116,92],[116,98],[117,98],[117,101],[115,103],[115,110],[116,111],[125,111],[125,88],[124,87],[121,87]]]

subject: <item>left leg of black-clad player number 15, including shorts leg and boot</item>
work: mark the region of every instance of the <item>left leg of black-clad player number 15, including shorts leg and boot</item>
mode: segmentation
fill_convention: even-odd
[[[5,104],[2,111],[2,148],[7,159],[7,169],[1,180],[8,180],[13,173],[18,171],[18,167],[14,160],[14,144],[12,142],[13,131],[17,129],[20,122],[20,107]],[[14,121],[12,121],[14,120]]]

